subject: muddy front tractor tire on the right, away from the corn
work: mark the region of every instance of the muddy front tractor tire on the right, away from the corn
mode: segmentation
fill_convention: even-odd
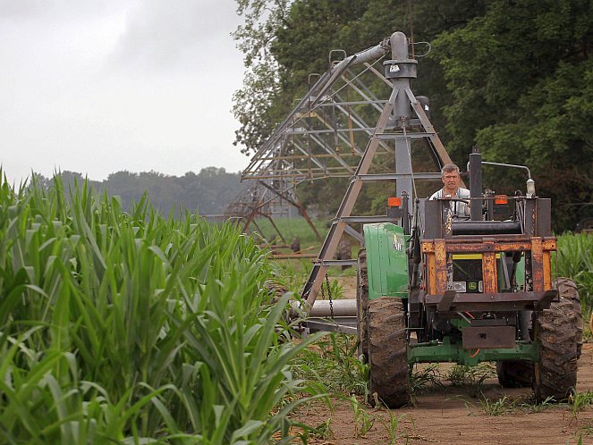
[[[535,398],[543,402],[552,397],[561,402],[577,384],[580,307],[561,294],[560,301],[535,315],[534,337],[539,343],[539,363],[533,365],[532,378]]]

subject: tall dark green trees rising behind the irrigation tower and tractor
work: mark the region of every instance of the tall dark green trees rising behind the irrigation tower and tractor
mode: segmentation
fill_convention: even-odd
[[[324,72],[335,48],[354,54],[396,30],[431,51],[412,89],[453,162],[473,146],[484,160],[529,166],[553,201],[556,231],[593,216],[593,2],[590,0],[237,0],[234,33],[247,69],[233,97],[236,144],[252,153]],[[513,172],[485,169],[505,189]],[[524,181],[521,180],[521,181]],[[345,186],[318,181],[302,199],[334,206]],[[324,189],[333,189],[327,194]],[[370,197],[372,201],[372,197]]]

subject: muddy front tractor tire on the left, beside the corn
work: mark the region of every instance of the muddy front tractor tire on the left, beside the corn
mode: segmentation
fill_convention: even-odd
[[[387,407],[402,407],[411,401],[402,299],[382,297],[370,300],[368,314],[371,405],[378,399]]]

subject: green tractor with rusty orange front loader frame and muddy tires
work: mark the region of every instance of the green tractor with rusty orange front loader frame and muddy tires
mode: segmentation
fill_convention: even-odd
[[[531,386],[538,402],[576,386],[580,300],[573,281],[553,279],[551,201],[530,177],[525,194],[482,192],[482,164],[474,150],[469,199],[404,192],[389,199],[394,223],[363,226],[357,328],[371,403],[408,404],[419,363],[496,362],[503,387]]]

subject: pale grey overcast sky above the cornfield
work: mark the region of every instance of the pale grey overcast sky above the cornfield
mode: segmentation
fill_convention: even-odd
[[[0,0],[0,164],[239,172],[234,0]]]

